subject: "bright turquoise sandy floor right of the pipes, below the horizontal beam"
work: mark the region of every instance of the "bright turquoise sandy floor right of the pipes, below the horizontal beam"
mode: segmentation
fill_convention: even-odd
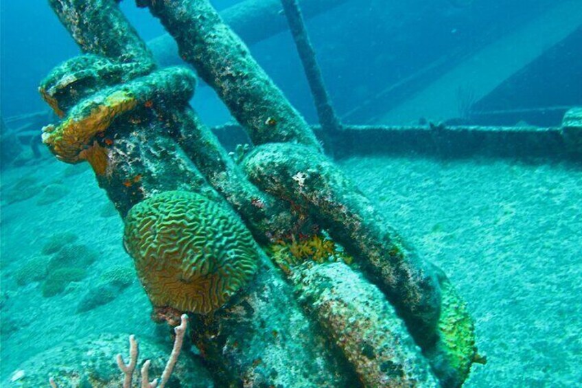
[[[582,168],[365,158],[342,167],[476,319],[466,387],[582,384]]]

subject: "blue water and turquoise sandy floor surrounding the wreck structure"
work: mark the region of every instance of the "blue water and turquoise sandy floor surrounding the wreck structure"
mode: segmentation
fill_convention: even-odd
[[[144,40],[165,33],[134,2],[119,6]],[[80,49],[46,1],[0,1],[0,28],[0,384],[27,386],[23,373],[62,352],[75,363],[73,353],[87,352],[80,343],[102,334],[111,335],[100,343],[104,369],[127,353],[130,333],[163,363],[171,341],[150,319],[123,220],[88,163],[67,165],[40,144],[55,117],[38,85]],[[347,0],[307,29],[345,125],[558,128],[582,106],[581,0]],[[249,48],[317,124],[289,32]],[[191,104],[201,119],[234,122],[199,83]],[[435,151],[363,132],[336,163],[467,301],[487,364],[474,365],[464,386],[582,386],[580,154],[552,144],[528,152],[519,141],[500,152]]]

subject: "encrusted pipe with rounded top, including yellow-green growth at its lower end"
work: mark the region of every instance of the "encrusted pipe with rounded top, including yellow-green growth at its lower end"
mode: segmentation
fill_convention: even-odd
[[[444,273],[405,244],[321,153],[299,144],[264,144],[244,166],[259,187],[304,209],[362,264],[404,319],[443,386],[462,385],[480,358],[472,318]],[[327,318],[319,317],[325,326]]]

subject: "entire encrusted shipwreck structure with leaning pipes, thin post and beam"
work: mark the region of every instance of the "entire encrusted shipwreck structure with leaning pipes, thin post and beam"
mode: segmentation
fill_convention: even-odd
[[[152,318],[176,326],[189,314],[191,340],[216,385],[458,387],[484,362],[445,273],[324,152],[316,133],[333,153],[346,141],[372,145],[334,113],[296,0],[282,8],[318,106],[316,131],[233,32],[235,13],[223,19],[208,0],[137,0],[196,74],[159,67],[117,1],[49,3],[84,54],[40,84],[60,117],[43,128],[43,143],[66,163],[91,164],[124,218],[124,246]],[[341,1],[315,3],[307,16]],[[278,1],[263,5],[261,12],[280,9]],[[211,130],[189,105],[196,76],[216,91],[250,150],[231,157],[217,133],[235,128]],[[525,154],[579,155],[580,117],[573,109],[561,128],[366,130],[391,136],[395,148],[413,138],[408,147],[443,155],[455,142],[504,155],[515,137]],[[65,372],[53,378],[68,381]]]

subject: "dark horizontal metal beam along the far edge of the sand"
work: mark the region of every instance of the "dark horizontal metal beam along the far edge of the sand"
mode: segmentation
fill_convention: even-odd
[[[318,135],[321,126],[313,126]],[[227,148],[248,142],[240,126],[212,128]],[[563,126],[391,126],[344,125],[334,141],[334,155],[426,155],[436,157],[571,158],[571,137]]]

